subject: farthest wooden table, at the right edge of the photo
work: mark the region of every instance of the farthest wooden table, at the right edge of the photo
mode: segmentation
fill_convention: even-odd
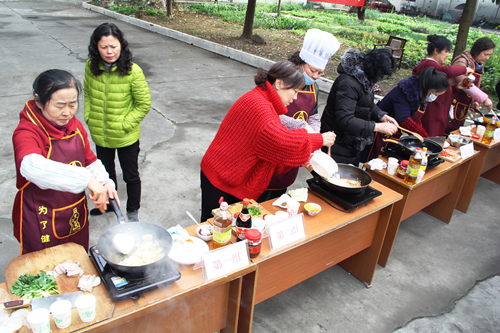
[[[475,133],[476,129],[473,128],[471,132]],[[460,135],[460,131],[453,131],[452,134]],[[458,199],[456,208],[464,213],[467,213],[469,209],[469,203],[480,176],[500,184],[500,140],[493,140],[491,144],[481,143],[477,139],[472,139],[472,141],[474,149],[479,151],[479,156],[474,158],[471,163],[462,193]]]

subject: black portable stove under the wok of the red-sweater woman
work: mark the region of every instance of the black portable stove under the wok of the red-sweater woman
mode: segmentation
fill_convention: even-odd
[[[342,208],[348,211],[354,211],[359,205],[370,201],[373,198],[382,195],[382,192],[374,189],[373,187],[367,186],[366,189],[360,194],[349,195],[344,193],[332,192],[324,185],[324,180],[319,177],[314,177],[306,180],[309,185],[309,189],[316,194],[319,194],[323,198],[329,199],[336,204],[340,205]],[[353,210],[354,209],[354,210]]]

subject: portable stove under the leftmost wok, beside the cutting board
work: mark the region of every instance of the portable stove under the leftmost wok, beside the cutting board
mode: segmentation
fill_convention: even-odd
[[[95,246],[90,248],[90,257],[114,300],[130,298],[146,291],[171,284],[181,278],[181,273],[168,256],[151,264],[145,273],[117,271],[102,258]]]

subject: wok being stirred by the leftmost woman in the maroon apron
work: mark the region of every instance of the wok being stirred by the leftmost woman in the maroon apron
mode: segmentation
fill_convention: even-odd
[[[168,253],[172,248],[172,236],[167,230],[156,224],[145,222],[125,223],[125,218],[123,217],[116,201],[114,199],[110,199],[109,201],[113,206],[120,224],[109,228],[104,234],[101,235],[101,237],[99,237],[99,240],[97,241],[97,251],[114,269],[132,274],[147,274],[148,270],[154,269],[154,266],[152,266],[154,263],[142,266],[125,266],[118,264],[118,262],[120,262],[125,256],[118,253],[113,246],[114,236],[119,233],[131,235],[135,238],[135,244],[137,245],[142,243],[141,238],[143,235],[151,234],[153,235],[153,239],[160,244],[163,253],[165,253],[165,257],[168,256]]]

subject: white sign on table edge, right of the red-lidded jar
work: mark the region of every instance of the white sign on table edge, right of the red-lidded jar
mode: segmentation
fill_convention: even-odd
[[[304,214],[295,215],[267,227],[271,251],[306,237]]]

